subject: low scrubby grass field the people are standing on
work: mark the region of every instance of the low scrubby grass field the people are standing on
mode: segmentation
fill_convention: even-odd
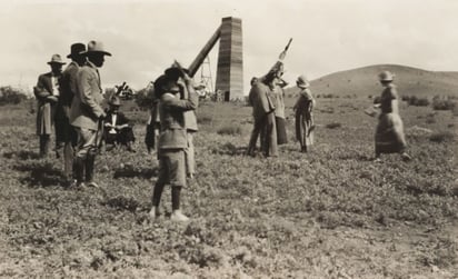
[[[38,159],[28,106],[3,107],[0,277],[458,278],[457,117],[402,103],[414,159],[376,163],[371,102],[318,99],[305,155],[288,100],[289,143],[272,159],[243,156],[250,108],[202,103],[185,225],[148,218],[146,112],[127,112],[138,152],[99,156],[101,187],[74,190],[61,160]],[[170,212],[169,190],[162,201]]]

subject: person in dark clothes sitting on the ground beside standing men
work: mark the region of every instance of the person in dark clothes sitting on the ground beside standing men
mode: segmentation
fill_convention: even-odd
[[[106,145],[125,146],[128,151],[136,152],[133,142],[132,124],[130,120],[119,111],[121,100],[117,96],[112,96],[108,100],[109,109],[106,111],[107,116],[103,118],[103,140]]]

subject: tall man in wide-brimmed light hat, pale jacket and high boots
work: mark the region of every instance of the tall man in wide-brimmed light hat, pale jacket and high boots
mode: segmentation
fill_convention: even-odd
[[[88,61],[78,71],[77,93],[73,97],[70,109],[70,123],[76,128],[78,142],[74,158],[74,177],[77,187],[98,187],[93,181],[93,165],[97,148],[102,136],[101,120],[106,113],[101,107],[103,100],[100,74],[97,68],[103,66],[104,57],[111,56],[100,41],[90,41],[88,50],[82,52]]]

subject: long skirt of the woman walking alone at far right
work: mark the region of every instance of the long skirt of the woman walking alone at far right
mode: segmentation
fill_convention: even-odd
[[[380,114],[376,130],[376,155],[402,152],[406,146],[404,124],[399,114]]]

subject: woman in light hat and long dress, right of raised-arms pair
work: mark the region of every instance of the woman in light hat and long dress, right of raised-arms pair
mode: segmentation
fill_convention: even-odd
[[[299,98],[296,101],[295,110],[296,114],[296,139],[300,143],[300,151],[307,152],[309,146],[313,145],[313,107],[315,99],[309,89],[310,83],[305,76],[300,76],[296,86],[300,88]]]

